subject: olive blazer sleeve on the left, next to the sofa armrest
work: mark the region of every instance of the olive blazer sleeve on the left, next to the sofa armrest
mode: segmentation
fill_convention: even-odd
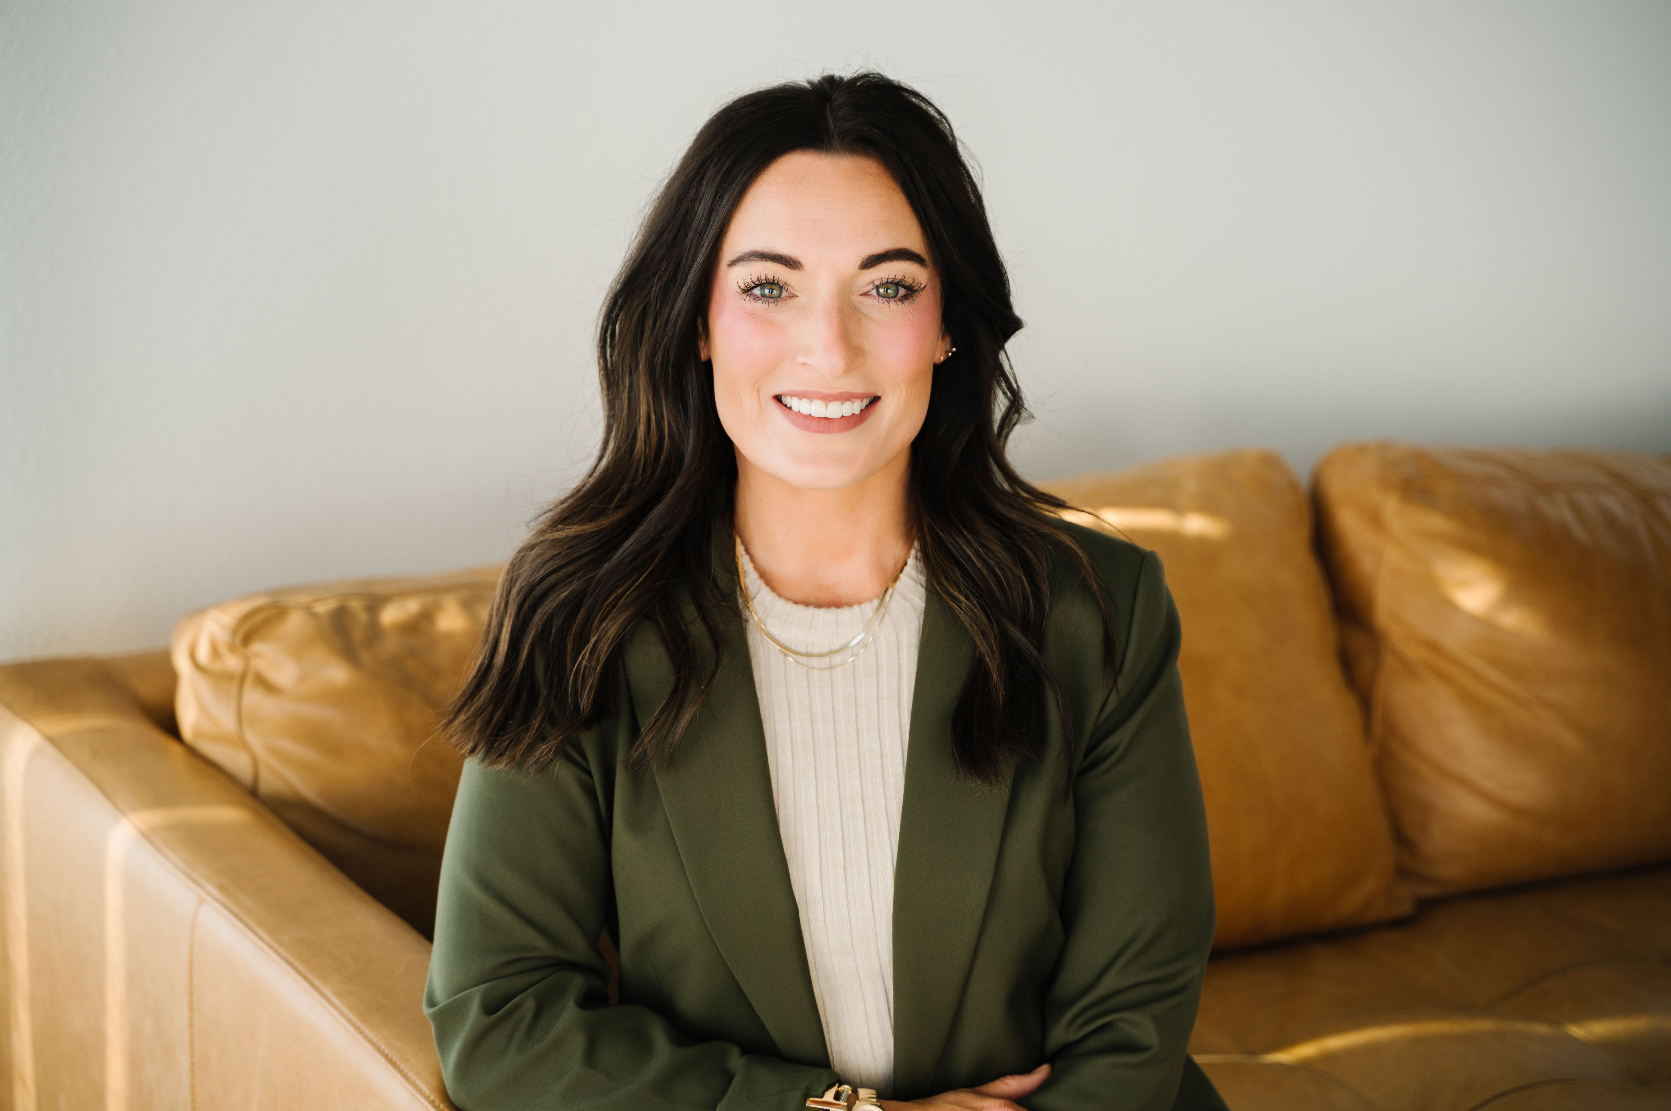
[[[608,1001],[608,837],[583,745],[540,775],[465,763],[424,1012],[463,1111],[790,1111],[834,1073],[692,1043]]]

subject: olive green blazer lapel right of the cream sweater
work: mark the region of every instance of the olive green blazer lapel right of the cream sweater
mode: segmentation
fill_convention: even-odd
[[[962,623],[934,590],[922,615],[906,799],[894,864],[894,1093],[937,1091],[936,1069],[986,914],[1009,809],[1011,760],[983,790],[957,779],[951,715],[974,662]]]

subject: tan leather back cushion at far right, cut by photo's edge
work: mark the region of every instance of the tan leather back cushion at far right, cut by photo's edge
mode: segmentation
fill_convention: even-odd
[[[1315,496],[1412,889],[1671,857],[1671,456],[1364,444]]]

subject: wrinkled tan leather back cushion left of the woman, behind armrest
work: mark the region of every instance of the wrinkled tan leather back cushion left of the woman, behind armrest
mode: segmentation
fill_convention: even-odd
[[[434,737],[498,568],[276,590],[174,632],[180,738],[429,936],[461,762]]]

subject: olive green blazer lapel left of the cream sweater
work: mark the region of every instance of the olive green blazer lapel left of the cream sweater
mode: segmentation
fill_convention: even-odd
[[[735,560],[720,543],[722,535],[729,538],[730,531],[715,528],[714,573],[727,576],[722,583],[734,583]],[[687,616],[705,652],[700,623],[693,611]],[[655,769],[655,782],[690,889],[732,976],[785,1059],[827,1068],[800,912],[777,830],[749,642],[735,611],[715,616],[719,677],[672,762]],[[702,657],[703,668],[709,658]],[[648,621],[638,625],[623,662],[633,710],[643,725],[673,687],[672,662]]]

